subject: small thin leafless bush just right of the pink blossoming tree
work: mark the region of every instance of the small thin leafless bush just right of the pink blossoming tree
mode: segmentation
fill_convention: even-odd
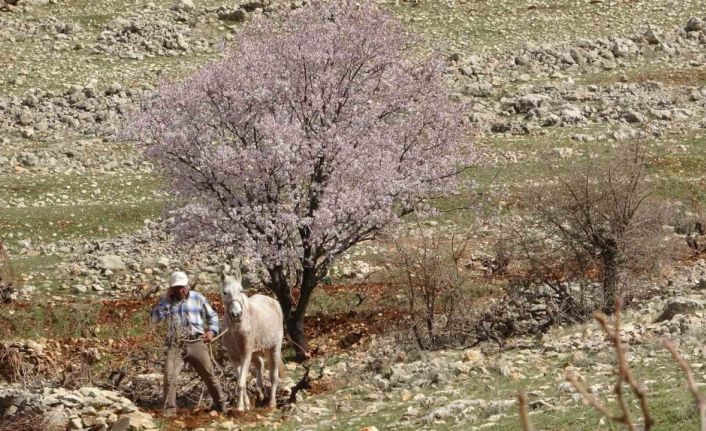
[[[416,345],[433,350],[466,344],[469,274],[461,264],[468,239],[419,221],[395,235],[392,282],[406,302]]]

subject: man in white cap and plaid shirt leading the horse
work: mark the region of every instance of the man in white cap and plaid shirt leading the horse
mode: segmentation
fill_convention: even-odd
[[[213,400],[213,409],[224,411],[226,400],[207,343],[218,333],[218,314],[208,300],[189,290],[185,273],[172,273],[169,290],[150,313],[153,323],[167,320],[167,359],[164,363],[164,402],[167,416],[176,413],[176,391],[179,372],[188,362],[206,384]]]

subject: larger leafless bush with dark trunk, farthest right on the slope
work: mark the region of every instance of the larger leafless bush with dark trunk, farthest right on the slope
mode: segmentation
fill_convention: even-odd
[[[645,147],[634,144],[607,160],[570,166],[530,192],[530,214],[512,229],[516,252],[526,262],[524,279],[563,296],[570,294],[570,283],[597,281],[600,308],[612,313],[620,286],[670,255],[663,241],[665,205],[653,197],[649,162]],[[576,311],[590,308],[584,299],[574,301]]]

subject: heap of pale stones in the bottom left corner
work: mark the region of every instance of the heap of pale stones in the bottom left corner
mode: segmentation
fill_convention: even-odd
[[[0,387],[3,416],[40,415],[46,429],[126,431],[156,428],[149,414],[139,412],[132,401],[112,391],[83,387],[75,391],[44,388],[30,392]]]

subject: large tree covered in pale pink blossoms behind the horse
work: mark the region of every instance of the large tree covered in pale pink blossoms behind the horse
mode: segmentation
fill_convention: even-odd
[[[127,130],[184,203],[177,235],[267,268],[301,357],[334,259],[454,190],[470,157],[464,107],[443,64],[370,3],[313,2],[238,36]]]

